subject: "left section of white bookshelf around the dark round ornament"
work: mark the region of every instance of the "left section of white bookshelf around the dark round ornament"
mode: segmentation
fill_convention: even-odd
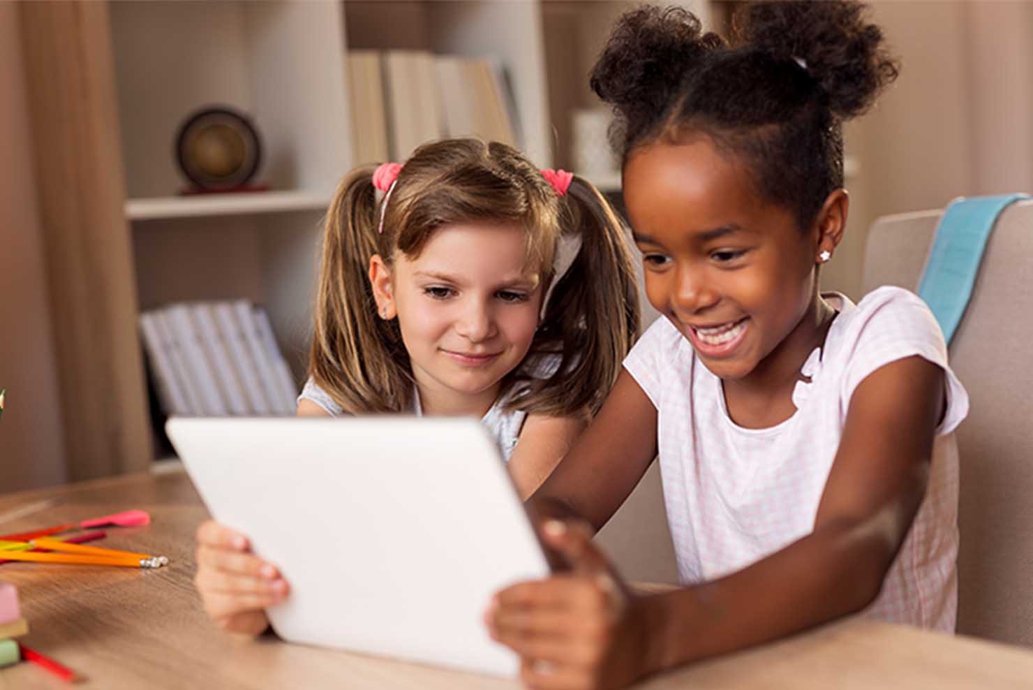
[[[351,166],[338,2],[112,2],[117,106],[140,310],[247,299],[301,376],[319,220]],[[258,130],[253,183],[181,195],[181,123],[228,105]]]

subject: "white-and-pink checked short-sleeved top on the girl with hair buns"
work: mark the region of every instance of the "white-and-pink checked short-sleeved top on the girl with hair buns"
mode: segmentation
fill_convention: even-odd
[[[958,447],[950,432],[968,395],[947,366],[936,319],[917,295],[881,287],[854,306],[823,295],[840,313],[824,349],[796,384],[796,412],[769,429],[745,429],[725,408],[721,380],[666,318],[624,367],[657,409],[657,442],[667,521],[684,584],[740,570],[814,529],[854,389],[869,374],[919,355],[946,372],[947,409],[937,429],[929,485],[911,531],[867,614],[952,631],[957,616]]]

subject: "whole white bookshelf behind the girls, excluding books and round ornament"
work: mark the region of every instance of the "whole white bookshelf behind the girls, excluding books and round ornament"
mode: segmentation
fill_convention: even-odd
[[[340,179],[356,162],[347,51],[494,58],[511,87],[523,149],[540,167],[554,167],[563,162],[556,160],[557,136],[565,135],[556,122],[566,117],[550,106],[555,87],[576,85],[578,93],[587,92],[587,69],[601,43],[584,43],[601,40],[612,18],[633,4],[111,2],[124,211],[138,309],[197,300],[260,303],[301,382],[320,222]],[[562,11],[553,11],[560,5]],[[546,50],[557,18],[592,27],[569,35],[582,52],[576,60]],[[228,105],[252,121],[262,145],[252,182],[270,191],[181,195],[186,181],[175,162],[175,138],[187,117],[211,105]],[[619,178],[595,182],[607,191],[620,183]]]

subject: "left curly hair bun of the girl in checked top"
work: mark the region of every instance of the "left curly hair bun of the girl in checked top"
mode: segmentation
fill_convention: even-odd
[[[616,135],[634,138],[660,120],[685,75],[722,45],[720,36],[703,33],[696,15],[682,7],[625,12],[590,76],[592,91],[617,111]]]

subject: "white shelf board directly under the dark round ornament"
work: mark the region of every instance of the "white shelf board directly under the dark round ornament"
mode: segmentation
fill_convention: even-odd
[[[283,211],[321,211],[331,196],[305,190],[248,192],[242,194],[199,194],[126,199],[129,220],[159,218],[195,218],[201,216],[241,216]]]

